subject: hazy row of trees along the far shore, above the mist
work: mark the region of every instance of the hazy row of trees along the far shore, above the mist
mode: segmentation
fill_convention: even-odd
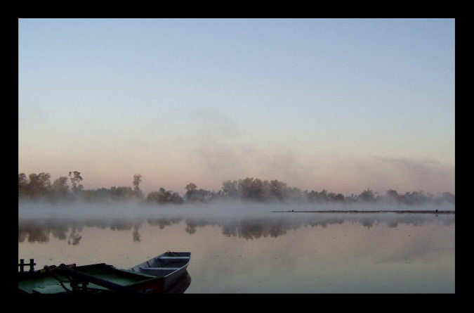
[[[18,174],[18,198],[20,200],[48,200],[52,203],[72,202],[82,200],[96,203],[109,200],[127,201],[138,200],[142,203],[209,203],[216,200],[243,200],[256,203],[392,203],[400,205],[421,205],[425,203],[454,205],[455,196],[445,192],[433,195],[423,191],[398,193],[390,189],[385,194],[366,189],[362,193],[344,196],[342,193],[333,193],[325,189],[322,191],[301,191],[296,187],[288,186],[283,181],[261,180],[247,177],[245,179],[224,181],[219,191],[198,189],[194,183],[185,186],[185,194],[160,188],[145,195],[140,189],[142,175],[133,175],[132,186],[112,186],[110,189],[84,189],[81,172],[69,172],[68,177],[59,177],[51,183],[51,174],[41,172]]]

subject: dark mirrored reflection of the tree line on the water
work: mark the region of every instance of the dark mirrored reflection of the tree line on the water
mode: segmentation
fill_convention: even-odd
[[[143,224],[158,226],[164,229],[166,226],[184,222],[187,234],[195,234],[199,228],[206,226],[219,226],[223,236],[244,238],[253,240],[258,238],[275,238],[287,234],[288,231],[300,229],[301,227],[321,227],[328,225],[361,224],[368,229],[374,225],[384,224],[390,228],[400,224],[421,226],[424,224],[438,223],[449,226],[454,224],[454,215],[427,216],[427,215],[338,215],[294,218],[294,217],[244,217],[244,218],[181,218],[161,217],[148,219],[23,219],[19,222],[18,242],[48,243],[50,236],[60,241],[67,241],[70,245],[78,245],[81,241],[81,231],[84,227],[97,227],[110,229],[112,231],[131,231],[133,242],[140,242],[142,236],[140,227]]]

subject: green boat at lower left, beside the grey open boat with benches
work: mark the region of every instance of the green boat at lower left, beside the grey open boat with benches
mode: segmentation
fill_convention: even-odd
[[[189,285],[188,285],[189,286]],[[186,287],[187,288],[187,287]],[[105,263],[18,272],[20,293],[164,293],[164,278]]]

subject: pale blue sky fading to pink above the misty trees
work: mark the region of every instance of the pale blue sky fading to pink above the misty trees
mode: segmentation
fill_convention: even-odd
[[[454,19],[18,25],[18,172],[454,193]]]

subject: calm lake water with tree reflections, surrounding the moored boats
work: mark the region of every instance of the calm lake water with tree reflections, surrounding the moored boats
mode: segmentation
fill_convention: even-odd
[[[190,251],[186,293],[455,291],[454,214],[266,211],[118,218],[20,211],[18,258],[34,258],[37,269],[129,268],[167,250]]]

